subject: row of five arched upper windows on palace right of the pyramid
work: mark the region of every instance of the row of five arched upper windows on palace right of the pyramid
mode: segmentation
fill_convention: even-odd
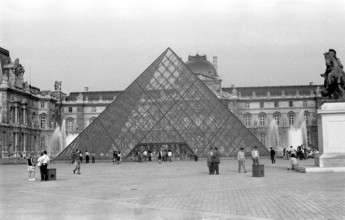
[[[251,122],[252,122],[252,115],[250,113],[246,113],[244,114],[243,116],[244,118],[244,123],[247,127],[249,126],[252,126]],[[273,119],[276,123],[276,125],[279,126],[280,124],[280,118],[281,118],[281,114],[279,112],[276,112],[273,114]],[[289,120],[289,125],[294,125],[295,124],[295,113],[294,112],[289,112],[287,113],[287,118]],[[309,124],[309,118],[310,118],[310,113],[309,112],[304,112],[304,121],[305,121],[305,124],[308,125]],[[266,114],[265,113],[260,113],[259,114],[259,126],[266,126],[265,124],[266,122]],[[256,126],[256,124],[254,124]]]

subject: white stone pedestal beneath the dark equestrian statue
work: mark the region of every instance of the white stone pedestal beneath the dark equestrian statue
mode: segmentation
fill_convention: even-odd
[[[345,167],[345,102],[325,102],[317,111],[317,167]]]

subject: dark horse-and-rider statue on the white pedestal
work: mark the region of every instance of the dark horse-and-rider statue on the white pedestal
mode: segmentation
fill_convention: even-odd
[[[325,56],[326,71],[321,74],[324,80],[324,90],[321,95],[329,99],[345,99],[345,73],[343,65],[334,49],[329,49]]]

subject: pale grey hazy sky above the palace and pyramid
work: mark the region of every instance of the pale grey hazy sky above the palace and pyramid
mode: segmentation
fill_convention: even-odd
[[[222,87],[323,84],[324,52],[345,63],[345,1],[0,0],[0,47],[67,94],[124,90],[168,47],[217,56]]]

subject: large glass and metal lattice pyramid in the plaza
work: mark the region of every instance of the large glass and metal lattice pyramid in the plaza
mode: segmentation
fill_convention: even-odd
[[[172,150],[175,156],[204,156],[217,147],[234,156],[262,143],[170,49],[162,53],[128,88],[67,146],[57,160],[78,149],[109,159],[113,151],[131,158],[144,149]]]

